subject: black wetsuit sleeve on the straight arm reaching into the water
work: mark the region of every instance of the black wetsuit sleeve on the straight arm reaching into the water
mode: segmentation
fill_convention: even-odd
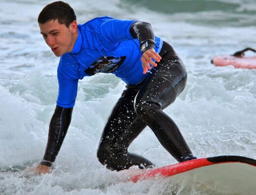
[[[73,108],[56,106],[50,122],[48,142],[41,165],[51,166],[55,161],[69,127],[72,111]]]

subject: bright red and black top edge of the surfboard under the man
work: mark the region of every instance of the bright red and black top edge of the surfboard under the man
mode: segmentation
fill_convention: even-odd
[[[146,170],[143,173],[129,177],[128,181],[132,181],[135,183],[141,180],[154,179],[159,177],[170,177],[172,175],[187,172],[192,169],[206,166],[214,166],[217,164],[243,164],[243,166],[245,166],[245,170],[248,170],[248,167],[252,168],[256,176],[256,160],[241,156],[216,156],[209,158],[194,159],[191,161],[186,161],[175,165]]]

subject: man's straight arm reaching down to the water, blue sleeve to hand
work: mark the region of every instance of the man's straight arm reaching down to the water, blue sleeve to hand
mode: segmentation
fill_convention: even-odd
[[[34,170],[37,174],[50,172],[67,133],[75,105],[79,66],[65,66],[62,63],[75,64],[74,61],[70,62],[70,58],[61,57],[58,66],[59,93],[57,106],[50,121],[48,141],[43,160]]]

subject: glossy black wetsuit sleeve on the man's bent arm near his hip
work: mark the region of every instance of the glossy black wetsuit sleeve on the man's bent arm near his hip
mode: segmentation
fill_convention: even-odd
[[[155,35],[149,23],[139,21],[133,23],[130,26],[130,34],[139,40],[142,54],[148,49],[155,48]]]

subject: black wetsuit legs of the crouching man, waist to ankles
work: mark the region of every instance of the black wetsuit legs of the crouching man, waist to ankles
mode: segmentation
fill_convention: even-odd
[[[185,88],[186,69],[166,42],[163,43],[160,56],[162,59],[158,66],[141,84],[126,86],[108,118],[97,157],[100,163],[110,169],[153,165],[149,160],[128,152],[130,143],[147,125],[178,162],[195,158],[177,125],[162,111]]]

